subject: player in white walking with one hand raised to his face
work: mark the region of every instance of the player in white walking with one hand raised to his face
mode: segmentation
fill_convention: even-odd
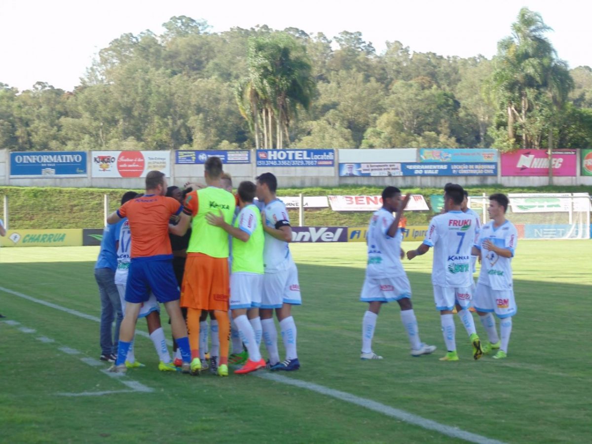
[[[368,265],[360,300],[368,303],[368,310],[362,318],[362,354],[360,358],[382,359],[372,351],[372,337],[380,307],[384,303],[397,301],[401,308],[401,321],[407,330],[411,343],[411,355],[429,355],[436,350],[419,339],[417,319],[411,304],[411,285],[401,264],[403,233],[399,221],[411,194],[401,199],[401,190],[387,186],[382,190],[382,208],[372,214],[368,226],[366,244],[368,246]],[[392,213],[397,212],[397,217]]]

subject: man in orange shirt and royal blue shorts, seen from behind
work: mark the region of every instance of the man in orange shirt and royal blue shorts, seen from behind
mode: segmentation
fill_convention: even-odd
[[[179,286],[172,265],[172,250],[169,242],[169,219],[179,215],[183,206],[170,197],[165,197],[166,178],[160,171],[146,175],[146,193],[127,201],[112,213],[108,223],[117,223],[128,218],[131,231],[131,262],[126,287],[126,316],[121,323],[117,361],[110,371],[124,373],[127,370],[126,356],[134,337],[140,308],[150,297],[165,304],[171,321],[171,329],[181,348],[182,370],[189,372],[191,351],[187,327],[179,307]],[[188,217],[181,214],[180,223]]]

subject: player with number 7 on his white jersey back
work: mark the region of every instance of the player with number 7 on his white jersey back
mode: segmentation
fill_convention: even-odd
[[[407,258],[423,255],[434,247],[432,285],[436,310],[440,311],[442,334],[448,353],[440,361],[458,361],[455,324],[452,309],[456,307],[473,346],[473,358],[481,358],[481,341],[469,311],[471,306],[471,249],[475,242],[475,220],[461,211],[462,186],[444,187],[446,213],[432,218],[427,236],[417,250],[407,252]]]

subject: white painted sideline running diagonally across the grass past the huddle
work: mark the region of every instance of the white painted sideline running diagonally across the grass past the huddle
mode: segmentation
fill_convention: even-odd
[[[52,308],[56,308],[57,310],[65,311],[66,313],[73,314],[74,316],[79,316],[79,317],[89,319],[89,320],[92,320],[95,322],[101,321],[98,317],[89,316],[88,314],[81,313],[80,311],[76,311],[76,310],[70,310],[70,308],[62,307],[61,305],[48,303],[46,301],[27,296],[25,294],[19,293],[17,291],[12,291],[12,290],[9,290],[4,287],[0,287],[0,291],[7,292],[9,294],[14,294],[15,296],[24,298],[29,301],[33,301],[38,304],[46,305],[47,307],[52,307]],[[136,332],[136,333],[144,333],[144,332]],[[149,335],[147,333],[144,333],[143,336],[149,337]],[[115,377],[118,379],[125,376],[123,374],[110,373],[110,372],[107,372],[107,370],[102,370],[102,372],[104,372],[105,374],[107,374],[110,377]],[[281,384],[294,385],[294,387],[300,387],[300,388],[304,388],[305,390],[311,390],[311,391],[314,391],[314,392],[317,392],[317,393],[320,393],[323,395],[327,395],[332,398],[336,398],[338,400],[345,401],[347,403],[355,404],[356,406],[368,408],[369,410],[376,411],[377,413],[384,414],[385,416],[390,416],[390,417],[399,419],[399,420],[404,421],[408,424],[413,424],[415,426],[422,427],[423,429],[433,430],[435,432],[441,433],[442,435],[446,435],[446,436],[450,436],[450,437],[454,437],[454,438],[459,438],[459,439],[464,439],[468,442],[475,442],[475,443],[479,443],[479,444],[503,444],[503,442],[495,440],[495,439],[490,439],[488,437],[477,435],[477,434],[471,433],[471,432],[465,432],[465,430],[458,429],[457,427],[446,426],[445,424],[437,423],[437,422],[432,421],[430,419],[426,419],[422,416],[418,416],[413,413],[408,413],[407,411],[400,410],[398,408],[394,408],[391,406],[387,406],[385,404],[378,403],[377,401],[372,401],[372,400],[369,400],[366,398],[352,395],[347,392],[334,390],[329,387],[324,387],[323,385],[314,384],[314,382],[302,381],[301,379],[292,379],[292,378],[288,378],[288,377],[285,377],[282,375],[274,375],[271,373],[257,373],[257,372],[255,372],[255,376],[259,377],[259,378],[263,378],[263,379],[269,379],[270,381],[279,382]],[[130,381],[130,380],[121,381],[121,382],[123,384],[126,384],[128,387],[133,388],[134,391],[145,392],[144,390],[142,390],[143,388],[147,389],[147,391],[150,391],[150,392],[153,391],[152,388],[146,387],[145,385],[140,384],[140,382]],[[140,386],[141,386],[141,388],[140,388]],[[83,393],[85,393],[85,392],[83,392]],[[94,394],[95,392],[88,392],[88,393]],[[72,395],[72,394],[70,394],[70,395]]]

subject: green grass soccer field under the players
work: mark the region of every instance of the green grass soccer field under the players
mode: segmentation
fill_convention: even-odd
[[[302,367],[278,379],[266,371],[224,379],[162,374],[152,343],[141,336],[136,356],[146,368],[109,377],[101,372],[106,364],[89,365],[100,352],[93,276],[98,250],[2,249],[0,313],[9,323],[0,322],[0,440],[461,442],[444,427],[424,429],[308,390],[316,384],[491,440],[588,443],[591,246],[589,240],[520,242],[514,259],[519,313],[508,358],[473,361],[457,321],[461,361],[447,363],[437,359],[443,339],[433,307],[431,253],[404,266],[422,340],[439,349],[411,358],[398,307],[391,304],[381,311],[374,340],[385,359],[362,362],[366,307],[358,297],[365,246],[294,244],[304,300],[294,309]],[[139,330],[146,330],[141,322]],[[295,380],[304,387],[286,384]]]

